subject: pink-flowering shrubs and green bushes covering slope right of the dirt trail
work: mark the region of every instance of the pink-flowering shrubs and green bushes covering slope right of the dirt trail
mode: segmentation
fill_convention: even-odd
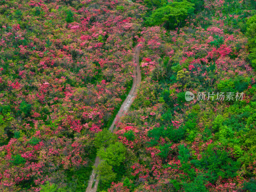
[[[248,55],[256,22],[255,3],[247,3],[204,1],[181,28],[144,26],[135,36],[143,81],[115,132],[127,148],[130,191],[255,191],[256,76]],[[244,98],[186,101],[186,91]],[[109,191],[125,191],[124,178]]]

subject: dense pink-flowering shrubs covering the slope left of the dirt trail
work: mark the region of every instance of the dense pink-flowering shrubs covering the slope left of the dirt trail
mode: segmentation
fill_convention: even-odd
[[[118,9],[123,7],[123,9]],[[127,1],[0,4],[0,191],[85,191],[94,134],[133,74],[143,6]]]

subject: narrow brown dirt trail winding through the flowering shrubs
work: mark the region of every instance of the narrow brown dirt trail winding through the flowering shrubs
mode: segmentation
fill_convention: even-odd
[[[134,67],[134,70],[133,70],[133,76],[134,77],[133,77],[132,89],[129,92],[126,99],[124,100],[123,104],[121,105],[120,110],[116,114],[116,117],[115,117],[113,123],[109,127],[109,130],[111,132],[113,132],[114,126],[116,124],[116,120],[118,120],[121,116],[123,116],[128,111],[128,109],[131,107],[132,102],[134,100],[133,98],[136,96],[138,88],[140,86],[140,82],[141,82],[140,61],[139,61],[140,48],[137,47],[137,45],[138,44],[136,44],[135,47],[133,48],[133,53],[134,53],[133,61],[136,63],[136,66]],[[100,158],[97,156],[96,159],[95,159],[94,166],[97,167],[99,162],[100,162]],[[95,185],[92,188],[92,183],[94,181],[95,174],[96,174],[96,170],[93,169],[92,170],[92,175],[90,176],[90,180],[88,182],[88,186],[86,188],[86,192],[96,192],[97,191],[97,187],[98,187],[98,184],[99,184],[99,178],[98,177],[96,177]]]

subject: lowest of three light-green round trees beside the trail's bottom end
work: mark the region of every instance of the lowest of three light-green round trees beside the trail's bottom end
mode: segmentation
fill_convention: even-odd
[[[112,171],[112,166],[107,161],[101,161],[96,168],[97,173],[100,175],[100,180],[106,184],[116,178],[116,173]]]

